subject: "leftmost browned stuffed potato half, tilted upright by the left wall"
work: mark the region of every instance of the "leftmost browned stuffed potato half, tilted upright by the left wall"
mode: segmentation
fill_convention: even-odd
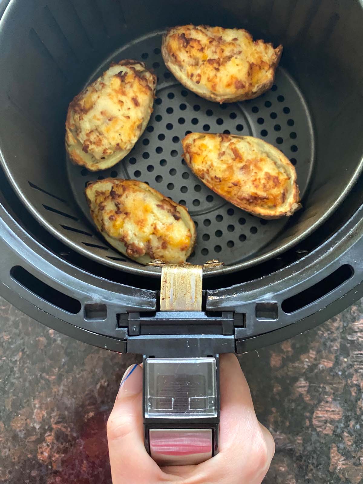
[[[91,171],[116,165],[146,128],[156,76],[143,62],[113,63],[68,107],[65,145],[71,161]]]

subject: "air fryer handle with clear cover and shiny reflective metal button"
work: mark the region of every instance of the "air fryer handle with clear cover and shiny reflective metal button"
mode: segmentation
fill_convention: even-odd
[[[157,464],[199,464],[218,453],[218,362],[144,357],[144,439]]]

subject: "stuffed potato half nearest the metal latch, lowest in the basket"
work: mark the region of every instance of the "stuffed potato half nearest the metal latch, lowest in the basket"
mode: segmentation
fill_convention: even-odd
[[[147,264],[181,264],[190,256],[196,227],[187,209],[146,183],[107,178],[85,190],[96,227],[115,249]]]

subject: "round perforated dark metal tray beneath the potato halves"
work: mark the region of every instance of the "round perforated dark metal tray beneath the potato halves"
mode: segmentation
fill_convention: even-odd
[[[223,105],[206,101],[184,89],[167,71],[160,45],[160,32],[137,40],[107,59],[87,81],[100,76],[111,61],[143,59],[158,76],[157,97],[144,134],[116,166],[91,173],[67,161],[74,197],[92,227],[84,197],[89,181],[106,177],[145,181],[188,208],[197,226],[197,245],[190,262],[203,263],[219,257],[229,266],[242,261],[254,263],[289,220],[258,219],[217,196],[186,166],[181,158],[181,139],[191,131],[261,137],[283,151],[296,166],[303,197],[313,168],[314,137],[302,94],[287,72],[279,68],[271,91],[257,99]],[[66,227],[64,231],[69,230]],[[87,248],[90,257],[101,257],[108,264],[127,263],[103,239],[95,241],[91,230],[79,235],[82,252]],[[285,248],[282,245],[280,250]]]

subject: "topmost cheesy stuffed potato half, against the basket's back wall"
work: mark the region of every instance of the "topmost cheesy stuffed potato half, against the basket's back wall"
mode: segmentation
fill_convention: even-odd
[[[169,29],[161,51],[179,82],[218,103],[253,99],[269,90],[282,45],[254,42],[243,29],[183,25]]]

